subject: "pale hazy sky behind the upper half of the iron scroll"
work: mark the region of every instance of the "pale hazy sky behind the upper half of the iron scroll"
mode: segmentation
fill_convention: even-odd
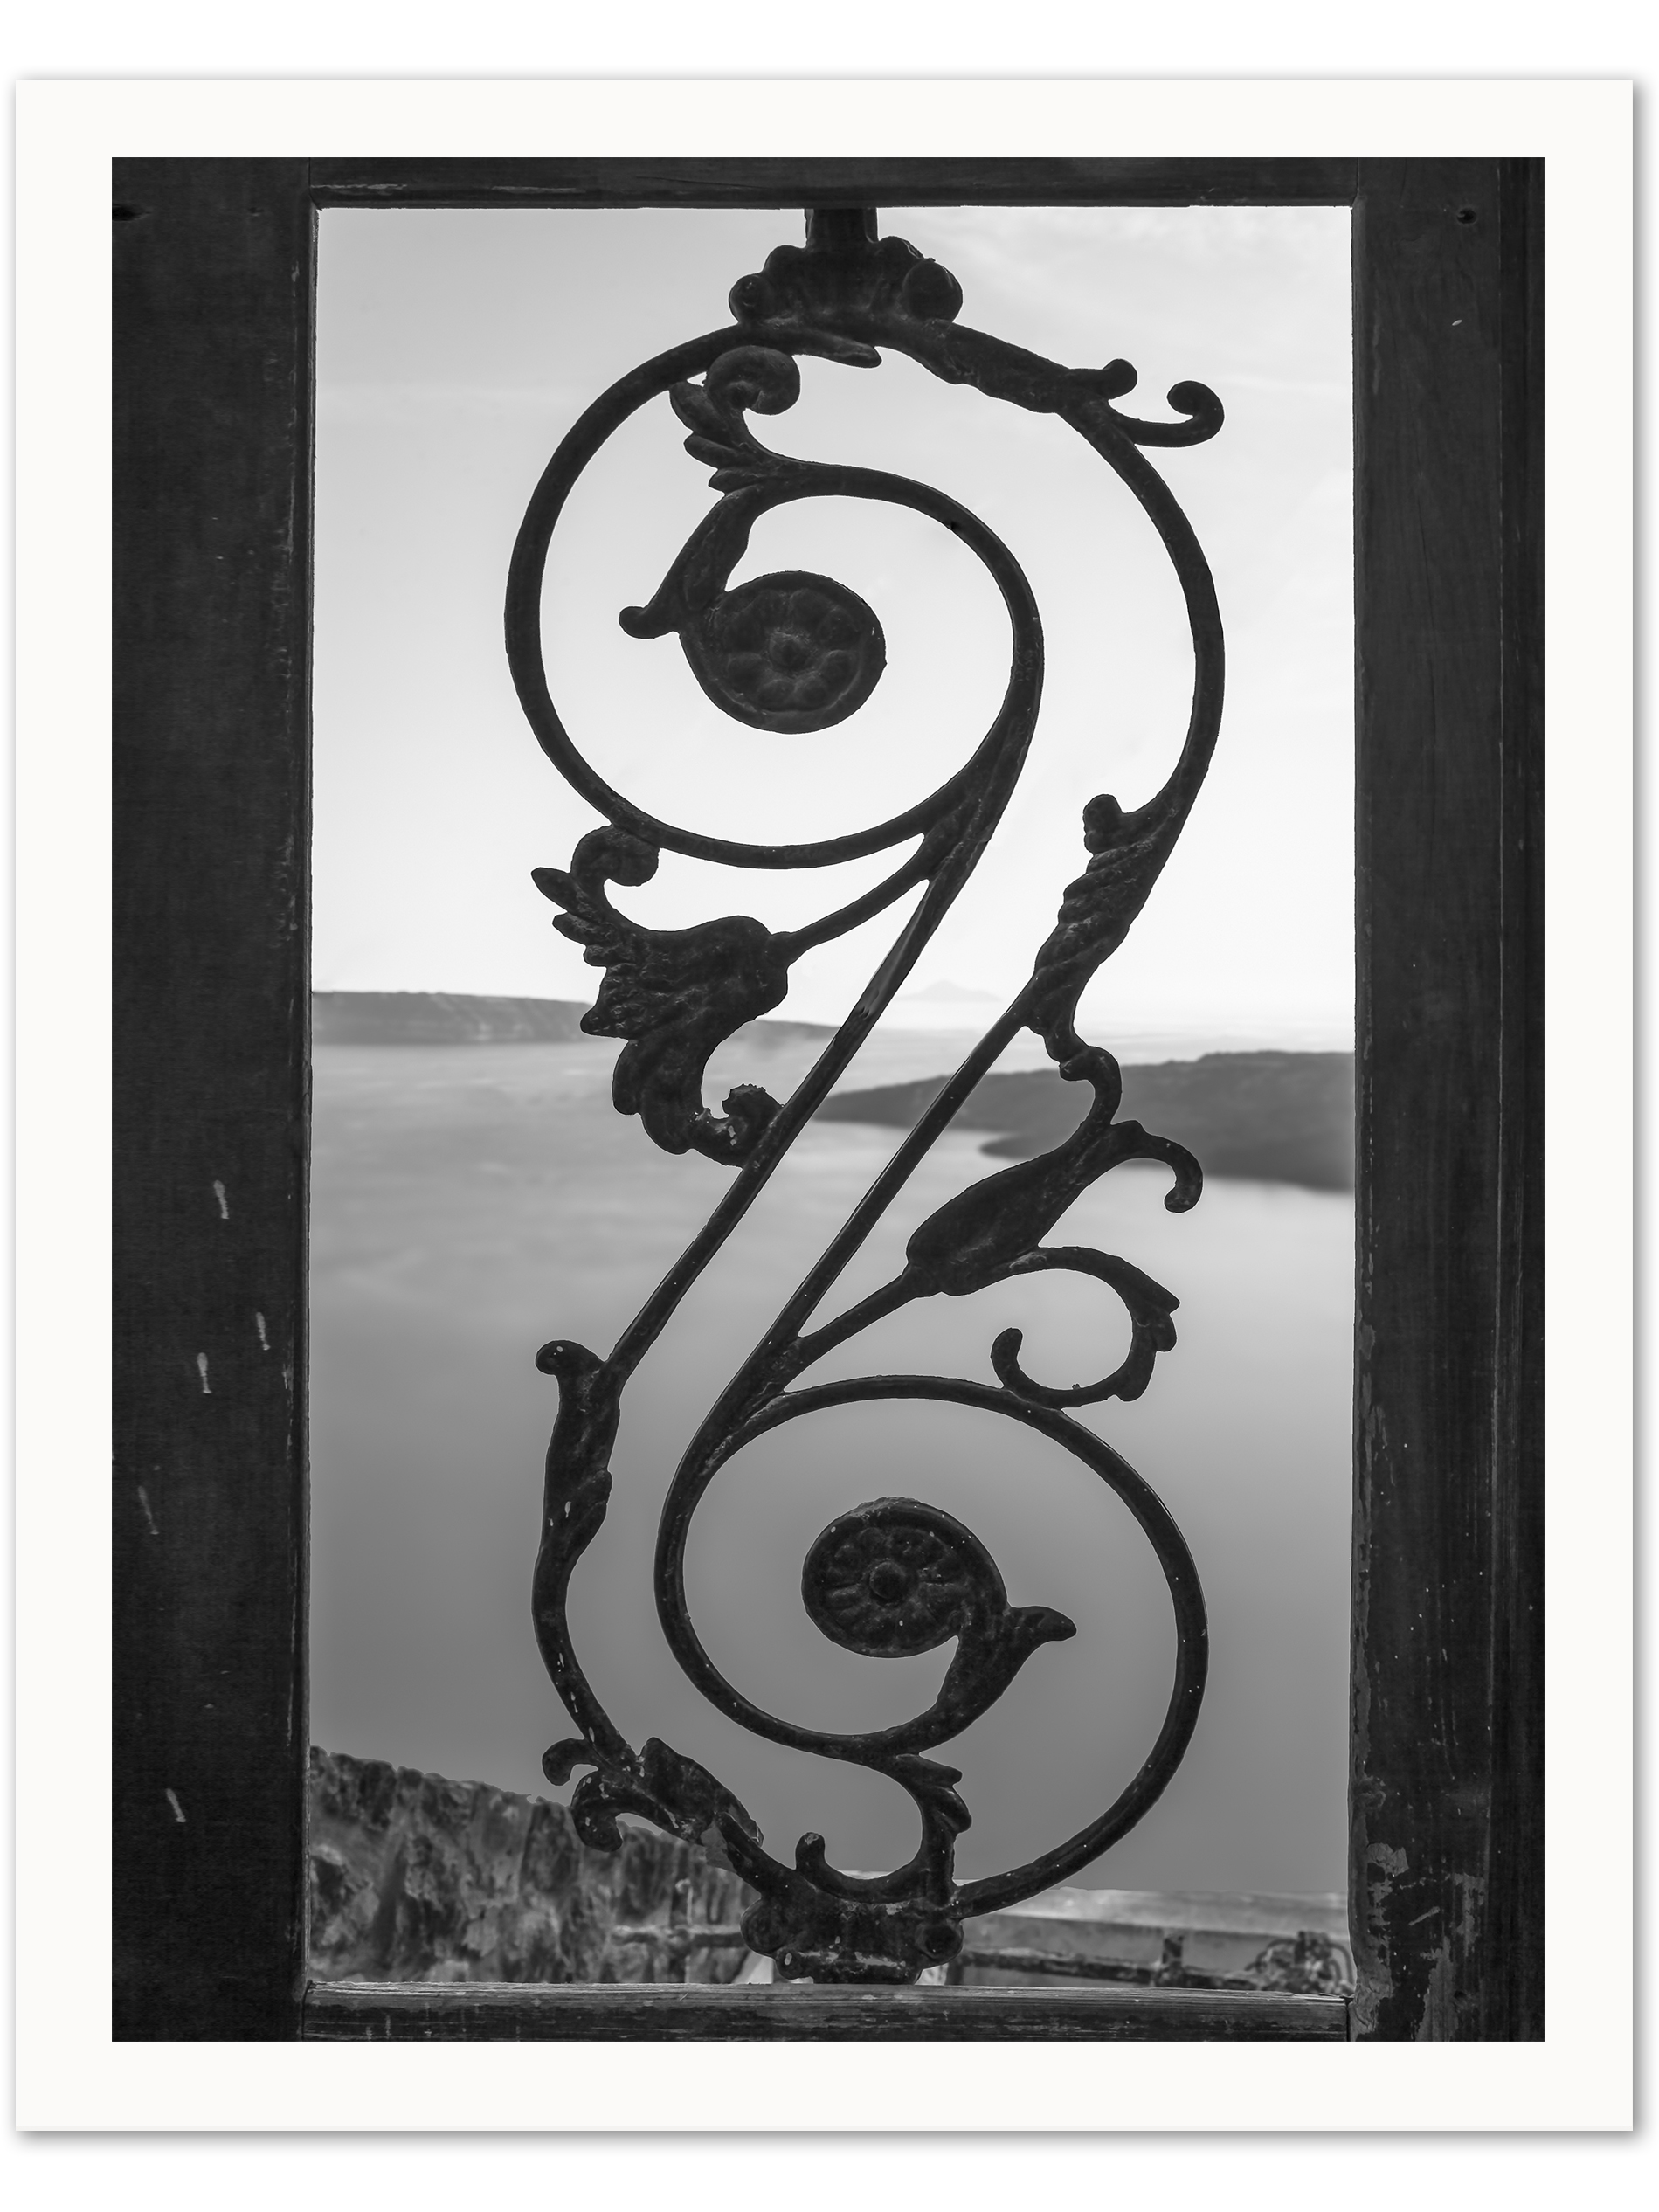
[[[1086,1026],[1199,1042],[1352,1035],[1352,445],[1347,215],[1329,208],[883,210],[962,283],[960,321],[1066,365],[1133,361],[1119,405],[1181,378],[1228,420],[1155,451],[1217,577],[1228,710],[1203,796],[1146,914],[1084,1000]],[[726,294],[799,210],[327,210],[316,431],[316,989],[591,998],[595,973],[529,880],[597,816],[513,697],[502,591],[529,493],[577,414],[641,358],[719,327]],[[1175,573],[1135,500],[1062,422],[887,356],[801,365],[763,442],[938,484],[1024,566],[1046,637],[1037,734],[975,878],[922,956],[918,1022],[1009,998],[1084,860],[1079,814],[1148,799],[1186,728]],[[726,836],[883,818],[978,743],[1009,626],[967,549],[874,502],[763,520],[737,582],[814,568],[880,615],[887,672],[816,737],[748,732],[677,639],[630,639],[708,511],[708,469],[659,398],[577,484],[549,557],[549,681],[584,754],[644,807]],[[619,894],[641,922],[757,914],[790,927],[894,863],[741,872],[664,856]],[[783,1015],[838,1020],[902,909],[810,953]]]

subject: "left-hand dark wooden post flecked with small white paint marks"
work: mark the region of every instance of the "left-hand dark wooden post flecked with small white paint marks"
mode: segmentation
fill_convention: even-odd
[[[294,2035],[314,215],[113,186],[115,2035]]]

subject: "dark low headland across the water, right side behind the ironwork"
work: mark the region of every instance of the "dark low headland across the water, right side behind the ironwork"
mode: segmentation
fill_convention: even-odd
[[[880,1121],[909,1128],[942,1075],[880,1091],[843,1091],[821,1121]],[[987,1075],[953,1128],[995,1130],[987,1152],[1031,1159],[1062,1144],[1093,1104],[1088,1084],[1033,1075]],[[1352,1053],[1203,1053],[1124,1068],[1121,1121],[1144,1121],[1197,1152],[1206,1175],[1354,1188]]]

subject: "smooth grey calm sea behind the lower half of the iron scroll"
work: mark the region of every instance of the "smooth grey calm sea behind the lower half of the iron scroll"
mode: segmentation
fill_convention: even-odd
[[[858,1084],[953,1064],[942,1037],[894,1037]],[[549,1336],[608,1349],[726,1183],[611,1110],[613,1046],[352,1048],[314,1055],[312,1161],[312,1739],[507,1790],[544,1792],[568,1734],[529,1624],[555,1385]],[[1040,1057],[1040,1055],[1037,1055]],[[779,1095],[803,1051],[717,1062]],[[914,1847],[909,1801],[860,1770],[759,1743],[679,1674],[650,1604],[657,1513],[708,1402],[898,1141],[807,1130],[630,1387],[611,1517],[573,1584],[588,1674],[637,1743],[666,1736],[750,1805],[790,1858],[805,1829],[847,1867]],[[885,1281],[911,1228],[987,1172],[947,1137],[832,1294]],[[1128,1889],[1345,1887],[1349,1360],[1354,1210],[1345,1197],[1212,1181],[1166,1214],[1166,1177],[1121,1168],[1051,1241],[1095,1243],[1181,1298],[1179,1343],[1146,1398],[1084,1411],[1175,1511],[1210,1606],[1210,1694],[1155,1812],[1075,1876]],[[991,1378],[989,1345],[1026,1332],[1048,1380],[1104,1374],[1126,1329],[1075,1276],[933,1298],[843,1347],[823,1374]],[[1175,1637],[1135,1524],[1075,1460],[956,1407],[845,1407],[741,1453],[688,1557],[719,1666],[792,1719],[874,1728],[929,1703],[949,1646],[863,1659],[801,1608],[801,1559],[867,1498],[927,1498],[989,1544],[1015,1604],[1060,1606],[1042,1648],[949,1750],[973,1827],[960,1869],[991,1874],[1095,1816],[1157,1734]],[[568,1794],[568,1792],[555,1792]]]

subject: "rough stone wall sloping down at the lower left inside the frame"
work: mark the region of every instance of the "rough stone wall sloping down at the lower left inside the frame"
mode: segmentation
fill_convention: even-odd
[[[657,1829],[593,1851],[544,1798],[312,1750],[316,1982],[730,1982],[750,1902]]]

